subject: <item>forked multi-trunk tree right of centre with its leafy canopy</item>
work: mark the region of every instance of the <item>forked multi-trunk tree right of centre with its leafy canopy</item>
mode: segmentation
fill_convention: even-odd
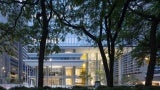
[[[59,21],[78,32],[84,33],[99,47],[107,85],[113,87],[113,67],[115,60],[116,39],[131,0],[88,0],[65,1],[59,3],[59,8],[53,12]],[[71,29],[71,28],[69,28]],[[106,57],[106,50],[109,60]]]

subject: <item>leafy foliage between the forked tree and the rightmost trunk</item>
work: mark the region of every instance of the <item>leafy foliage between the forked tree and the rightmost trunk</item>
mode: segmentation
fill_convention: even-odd
[[[134,47],[132,51],[132,57],[138,61],[138,65],[144,64],[146,57],[150,54],[150,30],[151,22],[147,15],[153,15],[157,17],[159,12],[159,1],[153,0],[142,0],[142,3],[132,2],[130,7],[136,11],[130,11],[127,13],[123,32],[121,32],[122,41],[127,42],[125,45],[131,45]],[[155,12],[153,12],[155,10]],[[142,13],[142,14],[138,14]],[[146,16],[144,16],[144,15]],[[157,29],[157,46],[159,46]]]

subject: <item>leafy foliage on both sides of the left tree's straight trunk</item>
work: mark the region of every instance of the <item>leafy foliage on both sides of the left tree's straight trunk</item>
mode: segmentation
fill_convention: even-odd
[[[13,51],[11,49],[15,49],[15,42],[20,42],[23,45],[33,45],[36,41],[36,44],[39,46],[42,29],[41,24],[36,18],[36,14],[40,10],[40,6],[39,4],[32,5],[33,3],[34,1],[32,0],[27,0],[23,4],[6,0],[3,2],[2,0],[0,3],[0,11],[2,15],[7,16],[7,23],[0,23],[0,52],[14,54],[15,50]],[[57,27],[60,27],[60,25],[53,23],[55,21],[56,20],[52,19],[52,23],[49,24],[50,33],[52,34],[49,35],[48,39],[54,39],[55,37],[57,38],[57,36],[64,38],[63,36],[65,36],[59,35],[61,30]],[[46,53],[57,52],[59,50],[57,45],[48,45],[46,47],[49,47],[50,50],[46,50]],[[38,51],[39,47],[35,50]]]

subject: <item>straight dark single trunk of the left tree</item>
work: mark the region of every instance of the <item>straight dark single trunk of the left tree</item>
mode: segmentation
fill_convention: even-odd
[[[45,0],[41,0],[41,9],[42,9],[42,37],[40,41],[40,51],[39,51],[39,58],[38,58],[38,87],[43,88],[43,63],[44,63],[44,53],[45,53],[45,46],[46,46],[46,39],[48,36],[48,20],[46,15],[46,7],[45,7]]]

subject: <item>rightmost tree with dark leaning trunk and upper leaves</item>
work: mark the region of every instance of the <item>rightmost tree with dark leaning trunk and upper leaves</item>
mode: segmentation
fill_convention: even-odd
[[[145,86],[151,86],[152,85],[152,80],[153,80],[153,75],[154,75],[154,67],[156,65],[156,57],[157,57],[157,30],[158,30],[158,25],[160,23],[160,11],[159,11],[159,1],[146,1],[146,0],[141,0],[141,1],[136,1],[133,2],[133,7],[130,7],[130,10],[138,15],[138,17],[141,17],[140,19],[143,19],[144,25],[139,27],[139,30],[146,30],[148,32],[149,38],[148,41],[149,43],[140,45],[147,46],[149,48],[149,53],[150,53],[150,60],[148,64],[148,69],[147,69],[147,75],[146,75],[146,80],[145,80]],[[155,12],[153,12],[155,11]],[[148,27],[148,28],[147,28]],[[140,38],[139,38],[140,39]],[[140,40],[142,41],[142,40]],[[145,41],[145,40],[143,40]]]

